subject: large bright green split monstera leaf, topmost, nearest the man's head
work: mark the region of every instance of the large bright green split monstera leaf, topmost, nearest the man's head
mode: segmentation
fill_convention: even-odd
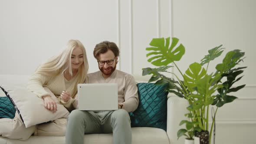
[[[171,62],[179,61],[181,57],[185,53],[185,48],[182,44],[180,44],[176,49],[174,47],[177,45],[179,39],[172,38],[171,46],[170,45],[170,37],[164,38],[156,38],[152,39],[150,46],[146,50],[153,51],[149,52],[146,56],[152,56],[148,59],[148,62],[155,66],[168,65]]]

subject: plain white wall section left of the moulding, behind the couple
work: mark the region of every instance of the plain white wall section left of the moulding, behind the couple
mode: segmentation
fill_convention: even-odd
[[[95,44],[118,43],[118,1],[0,1],[0,74],[31,74],[69,39],[84,44],[90,71],[96,71]]]

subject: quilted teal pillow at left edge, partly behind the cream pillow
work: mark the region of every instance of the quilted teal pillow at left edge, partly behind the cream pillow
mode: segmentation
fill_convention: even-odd
[[[14,118],[16,112],[14,105],[2,90],[0,87],[0,118]]]

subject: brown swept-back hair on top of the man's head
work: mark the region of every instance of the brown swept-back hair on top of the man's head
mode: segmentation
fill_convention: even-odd
[[[108,49],[110,49],[114,53],[115,57],[119,56],[120,51],[118,49],[118,46],[116,46],[115,43],[109,41],[98,43],[94,48],[93,56],[95,57],[95,59],[98,60],[98,56],[100,54],[106,53]]]

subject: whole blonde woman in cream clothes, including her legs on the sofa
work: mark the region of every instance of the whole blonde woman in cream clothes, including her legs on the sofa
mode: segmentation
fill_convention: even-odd
[[[39,66],[31,76],[27,88],[38,97],[43,98],[45,108],[55,112],[56,102],[50,97],[50,91],[68,110],[72,110],[72,102],[77,93],[77,84],[84,83],[89,66],[85,47],[79,40],[69,40],[66,49],[59,55]],[[48,92],[43,87],[47,87]],[[26,140],[31,134],[41,136],[64,136],[66,118],[53,122],[37,124],[25,128],[19,114],[13,119],[0,121],[0,135],[11,139]]]

